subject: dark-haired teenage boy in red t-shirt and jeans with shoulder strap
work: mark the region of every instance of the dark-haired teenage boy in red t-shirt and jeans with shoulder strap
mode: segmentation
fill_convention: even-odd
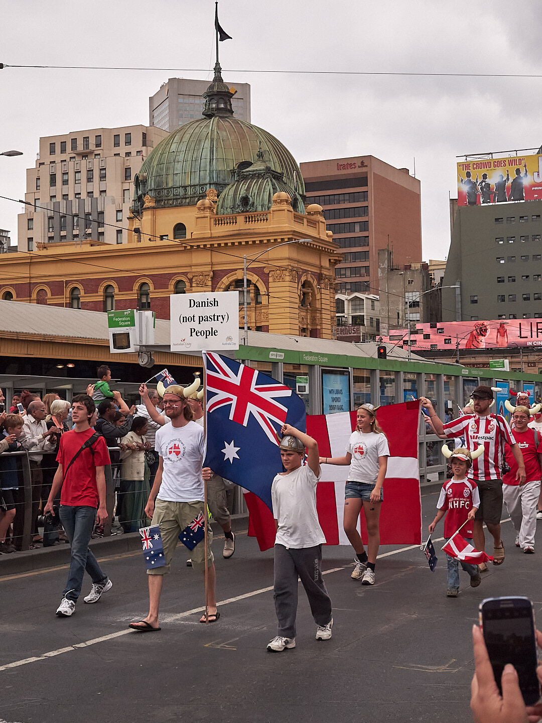
[[[89,424],[94,412],[95,403],[89,395],[74,396],[72,422],[75,427],[64,432],[60,438],[59,453],[56,455],[59,467],[43,510],[44,513],[53,511],[53,500],[62,488],[59,516],[72,547],[72,557],[68,581],[61,604],[56,610],[59,617],[69,617],[75,612],[85,570],[93,579],[92,589],[85,597],[85,602],[98,602],[100,596],[113,585],[88,547],[94,523],[97,521],[103,525],[108,518],[104,467],[110,461],[106,440],[98,436],[91,445],[92,451],[89,447],[80,451],[85,442],[95,435],[95,430]]]

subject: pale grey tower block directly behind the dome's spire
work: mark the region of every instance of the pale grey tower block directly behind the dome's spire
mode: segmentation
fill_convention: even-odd
[[[202,95],[208,87],[208,80],[170,78],[149,98],[149,124],[173,133],[179,126],[201,118],[205,103]],[[231,83],[229,87],[232,93],[236,91],[231,98],[233,113],[250,123],[249,83]]]

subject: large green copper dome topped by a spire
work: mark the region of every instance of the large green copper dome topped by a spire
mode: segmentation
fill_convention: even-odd
[[[259,150],[283,183],[296,196],[304,196],[303,177],[291,153],[264,129],[236,119],[231,95],[220,66],[215,67],[215,78],[204,93],[205,117],[171,133],[142,163],[134,178],[136,212],[141,213],[147,194],[155,198],[156,208],[196,205],[210,188],[220,198],[241,171],[258,161]]]

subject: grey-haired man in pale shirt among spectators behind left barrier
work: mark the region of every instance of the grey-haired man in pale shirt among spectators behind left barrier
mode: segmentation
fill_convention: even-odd
[[[22,447],[27,451],[53,452],[56,445],[56,435],[61,433],[58,427],[47,429],[45,422],[46,407],[40,399],[30,402],[25,416],[25,422],[22,425],[21,439]],[[32,531],[35,533],[35,523],[38,519],[38,510],[40,508],[41,487],[43,484],[43,472],[41,470],[41,461],[43,454],[29,455],[30,458],[30,474],[32,479]],[[33,542],[40,542],[34,539]]]

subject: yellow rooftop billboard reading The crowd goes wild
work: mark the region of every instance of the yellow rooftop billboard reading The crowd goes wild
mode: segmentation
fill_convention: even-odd
[[[457,205],[542,198],[542,155],[508,155],[457,163]]]

